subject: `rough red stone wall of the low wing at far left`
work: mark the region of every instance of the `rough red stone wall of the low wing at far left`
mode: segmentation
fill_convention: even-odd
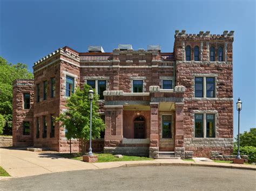
[[[15,80],[12,84],[12,145],[33,145],[33,80]],[[30,109],[24,109],[24,93],[30,94]],[[29,135],[23,135],[24,122],[29,122]]]

